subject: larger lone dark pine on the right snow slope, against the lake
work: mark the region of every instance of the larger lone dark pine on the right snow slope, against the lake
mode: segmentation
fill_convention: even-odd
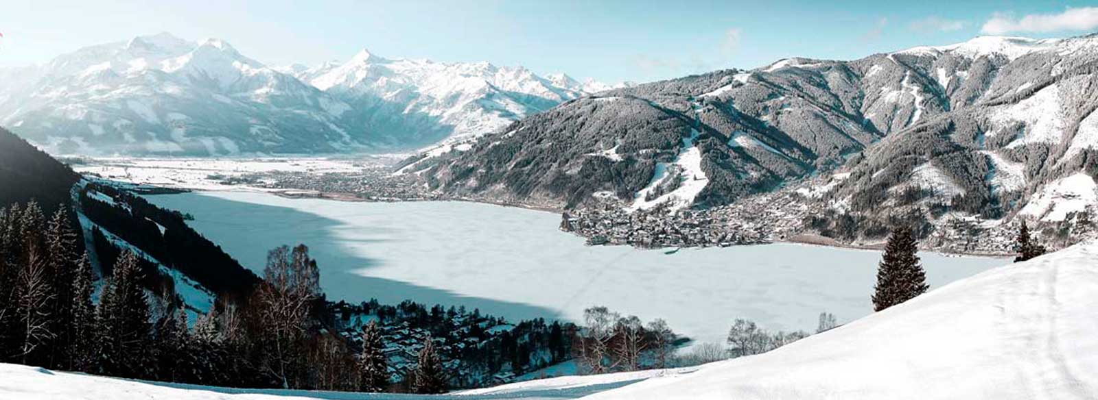
[[[873,310],[881,311],[927,292],[927,275],[919,263],[918,243],[907,228],[893,230],[877,268]]]

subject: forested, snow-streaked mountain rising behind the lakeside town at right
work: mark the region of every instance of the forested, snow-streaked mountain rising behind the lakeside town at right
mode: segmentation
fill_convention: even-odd
[[[707,208],[813,179],[838,214],[1062,219],[1098,202],[1096,72],[1095,35],[792,58],[569,101],[406,169],[558,208]]]

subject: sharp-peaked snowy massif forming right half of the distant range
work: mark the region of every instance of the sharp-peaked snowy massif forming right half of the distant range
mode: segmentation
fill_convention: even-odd
[[[523,67],[388,59],[365,49],[347,62],[293,75],[349,104],[354,124],[389,133],[377,140],[390,144],[460,140],[612,89],[563,73],[542,78]]]

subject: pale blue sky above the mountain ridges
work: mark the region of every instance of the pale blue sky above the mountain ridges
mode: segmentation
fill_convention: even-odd
[[[220,37],[269,65],[383,57],[651,81],[783,57],[851,59],[986,33],[1098,31],[1098,1],[123,1],[0,4],[0,66],[138,34]]]

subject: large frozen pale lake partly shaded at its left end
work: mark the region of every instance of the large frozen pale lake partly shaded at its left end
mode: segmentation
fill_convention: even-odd
[[[777,243],[674,254],[587,247],[560,215],[463,202],[347,203],[254,192],[148,196],[260,273],[267,251],[305,243],[329,299],[464,305],[508,319],[578,319],[601,305],[724,342],[736,318],[815,330],[872,312],[876,251]],[[1008,260],[920,253],[931,289]]]

